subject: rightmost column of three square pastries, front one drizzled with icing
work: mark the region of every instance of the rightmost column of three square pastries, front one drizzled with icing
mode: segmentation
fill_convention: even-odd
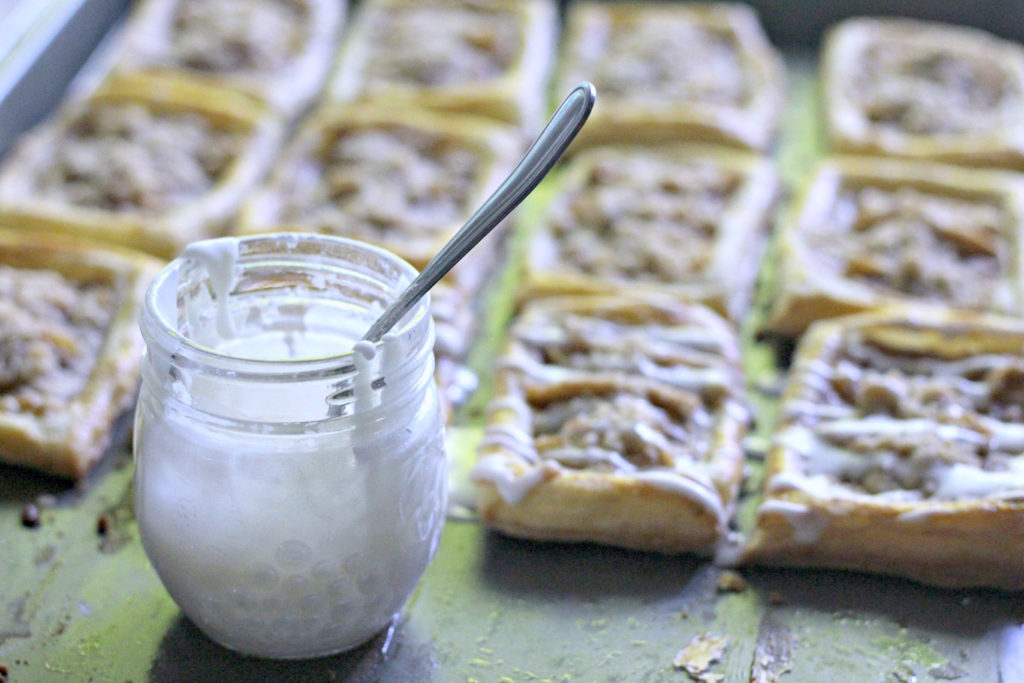
[[[1024,47],[857,18],[822,47],[835,156],[779,220],[801,336],[742,558],[1024,588]]]

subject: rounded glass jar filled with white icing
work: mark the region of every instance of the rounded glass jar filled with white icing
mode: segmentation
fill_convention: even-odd
[[[362,243],[281,233],[200,243],[151,287],[138,528],[222,645],[354,647],[433,557],[447,490],[428,299],[355,343],[415,274]]]

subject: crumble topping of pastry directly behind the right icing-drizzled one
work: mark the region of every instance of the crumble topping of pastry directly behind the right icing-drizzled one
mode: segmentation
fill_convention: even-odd
[[[1006,210],[903,187],[841,191],[807,232],[809,251],[844,278],[887,293],[986,309],[1010,258]]]

